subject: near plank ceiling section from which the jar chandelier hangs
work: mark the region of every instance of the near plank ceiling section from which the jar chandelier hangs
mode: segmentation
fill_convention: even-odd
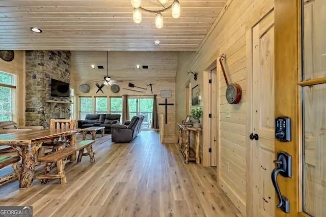
[[[170,0],[169,4],[173,1]],[[132,20],[130,0],[0,0],[0,47],[3,50],[157,50],[195,51],[218,17],[226,0],[179,0],[181,17],[143,12]],[[142,6],[161,9],[156,0]],[[42,29],[36,34],[30,27]],[[154,45],[159,40],[159,46]]]

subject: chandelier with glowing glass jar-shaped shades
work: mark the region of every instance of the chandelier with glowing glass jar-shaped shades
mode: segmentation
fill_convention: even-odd
[[[131,5],[133,7],[133,22],[135,23],[141,23],[142,22],[142,11],[146,12],[151,12],[155,13],[155,26],[156,28],[162,28],[163,27],[163,16],[162,12],[165,12],[169,9],[172,9],[172,17],[173,18],[179,18],[181,14],[181,9],[180,9],[180,3],[178,0],[174,0],[173,3],[169,7],[165,7],[164,4],[167,4],[169,0],[156,0],[162,7],[163,9],[161,10],[148,10],[145,8],[141,7],[141,0],[131,0]]]

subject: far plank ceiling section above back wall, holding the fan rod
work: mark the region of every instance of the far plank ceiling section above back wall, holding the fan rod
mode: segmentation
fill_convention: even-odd
[[[170,80],[176,76],[179,52],[173,51],[109,51],[108,76],[114,80]],[[137,69],[135,66],[140,65]],[[96,68],[92,69],[91,65]],[[97,66],[104,69],[98,69]],[[148,69],[142,69],[148,66]],[[106,76],[105,51],[72,51],[71,73],[76,81],[97,81]]]

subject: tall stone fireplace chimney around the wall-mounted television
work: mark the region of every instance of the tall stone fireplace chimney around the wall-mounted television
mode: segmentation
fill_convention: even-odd
[[[51,97],[50,87],[51,78],[70,83],[70,51],[26,51],[25,69],[26,126],[48,128],[51,118],[70,118],[70,104],[52,102],[70,99]]]

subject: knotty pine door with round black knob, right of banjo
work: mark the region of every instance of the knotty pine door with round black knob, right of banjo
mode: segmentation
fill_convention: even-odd
[[[274,216],[274,11],[253,27],[252,134],[254,216]]]

